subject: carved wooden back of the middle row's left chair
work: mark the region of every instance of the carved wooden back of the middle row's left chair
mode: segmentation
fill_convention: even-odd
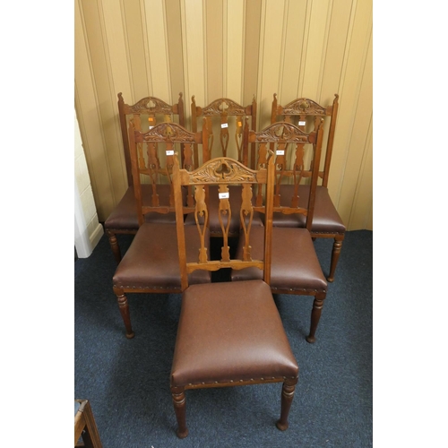
[[[129,123],[129,145],[131,166],[134,180],[134,194],[137,205],[139,225],[142,226],[144,215],[151,211],[168,213],[175,211],[174,190],[172,184],[174,154],[176,145],[183,147],[183,168],[194,170],[193,145],[202,144],[202,132],[190,133],[176,123],[160,123],[151,127],[146,133],[135,129],[134,121]],[[207,143],[207,142],[205,142]],[[165,165],[160,163],[159,153],[163,151],[166,158]],[[146,153],[144,157],[143,152]],[[142,177],[148,177],[152,187],[151,204],[142,202]],[[170,185],[169,203],[160,204],[157,186],[160,178],[164,177]],[[185,203],[185,196],[182,201]],[[186,192],[186,203],[194,204],[192,189]]]

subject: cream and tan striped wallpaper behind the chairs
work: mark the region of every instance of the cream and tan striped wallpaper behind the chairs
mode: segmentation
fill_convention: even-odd
[[[372,0],[75,0],[75,110],[99,220],[125,193],[117,93],[179,92],[198,106],[340,95],[329,191],[349,228],[373,229]]]

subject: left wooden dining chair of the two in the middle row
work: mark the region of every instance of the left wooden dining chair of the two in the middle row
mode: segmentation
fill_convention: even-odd
[[[175,123],[161,123],[148,132],[142,133],[136,130],[134,123],[131,122],[129,137],[139,228],[131,246],[116,267],[113,277],[113,289],[128,339],[134,337],[134,330],[126,294],[179,293],[181,291],[176,222],[148,222],[144,219],[146,214],[154,212],[175,213],[176,219],[174,190],[170,188],[173,195],[169,205],[160,204],[157,194],[152,195],[151,203],[145,203],[142,196],[142,177],[151,178],[150,186],[154,186],[154,179],[158,176],[166,177],[172,185],[174,151],[178,150],[177,145],[180,146],[181,143],[184,147],[184,168],[186,170],[194,169],[193,143],[202,143],[202,133],[190,133]],[[143,157],[143,147],[146,148],[148,159]],[[164,167],[159,165],[156,150],[165,152],[166,164]],[[193,206],[194,199],[191,189],[190,192],[186,189],[186,192],[186,203]],[[184,193],[181,192],[183,206],[185,206],[184,197]],[[186,255],[191,260],[194,259],[196,247],[199,244],[195,226],[185,224],[185,235],[187,236]],[[203,235],[203,244],[206,247],[210,245],[207,229]],[[207,283],[211,281],[211,274],[207,271],[194,272],[190,281],[192,283]]]

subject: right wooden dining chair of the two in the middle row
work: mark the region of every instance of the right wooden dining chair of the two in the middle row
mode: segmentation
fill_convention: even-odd
[[[275,185],[273,186],[273,215],[284,214],[287,217],[300,215],[305,220],[305,226],[273,227],[271,244],[271,291],[276,294],[291,294],[295,296],[314,297],[311,312],[311,325],[306,340],[315,341],[315,332],[319,323],[323,301],[326,297],[327,282],[311,237],[310,228],[313,220],[315,185],[317,170],[308,172],[305,169],[306,150],[311,151],[309,159],[318,166],[323,139],[323,127],[306,134],[297,126],[287,122],[279,122],[267,126],[260,132],[251,131],[249,142],[258,145],[258,167],[264,167],[268,160],[268,151],[275,154]],[[293,156],[292,166],[289,166],[289,152]],[[300,196],[299,185],[304,177],[310,177],[310,188],[307,197]],[[284,198],[281,186],[289,180],[293,194]],[[285,201],[288,199],[288,201]],[[269,201],[269,190],[258,188],[256,205]],[[263,256],[263,228],[253,228],[252,255]],[[237,258],[244,254],[245,247],[238,241]],[[261,279],[260,272],[253,269],[232,270],[232,281]]]

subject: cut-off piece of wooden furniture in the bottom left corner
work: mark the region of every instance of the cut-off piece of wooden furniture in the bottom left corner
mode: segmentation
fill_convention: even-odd
[[[80,443],[80,438],[83,444]],[[102,448],[95,418],[88,400],[74,401],[74,445],[75,447]]]

